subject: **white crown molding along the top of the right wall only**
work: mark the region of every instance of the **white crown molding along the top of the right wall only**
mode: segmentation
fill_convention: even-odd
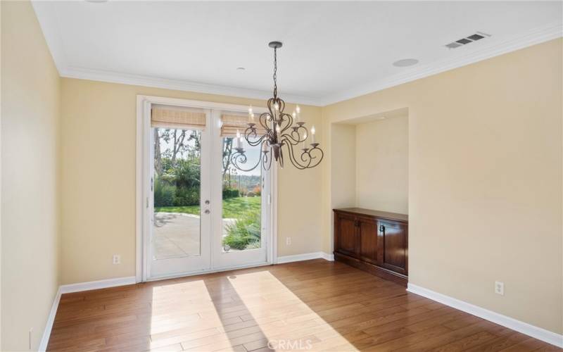
[[[382,89],[394,87],[398,84],[419,80],[420,78],[436,75],[437,73],[442,73],[454,68],[460,68],[464,65],[483,61],[487,58],[493,58],[495,56],[510,53],[511,51],[524,49],[527,46],[548,42],[551,39],[556,39],[562,36],[563,24],[549,23],[548,25],[535,28],[523,34],[512,36],[500,43],[490,44],[489,46],[483,47],[479,50],[457,55],[455,58],[436,61],[429,65],[417,66],[403,73],[391,75],[382,80],[376,80],[369,84],[353,87],[344,92],[324,96],[320,101],[320,105],[327,106],[332,103],[338,103],[339,101],[377,92]]]

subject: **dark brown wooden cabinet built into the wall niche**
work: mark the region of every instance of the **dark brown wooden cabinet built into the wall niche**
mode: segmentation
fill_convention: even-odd
[[[334,259],[406,285],[408,216],[334,209]]]

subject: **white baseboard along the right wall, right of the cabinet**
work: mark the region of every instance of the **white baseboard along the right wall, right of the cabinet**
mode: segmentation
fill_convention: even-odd
[[[409,283],[407,286],[407,291],[419,296],[430,298],[433,301],[440,302],[445,304],[446,306],[462,310],[465,313],[475,315],[479,318],[494,322],[495,324],[502,325],[503,327],[521,332],[522,334],[526,334],[535,339],[545,341],[548,344],[563,348],[563,335],[561,334],[556,334],[555,332],[550,332],[549,330],[542,329],[541,327],[530,325],[527,322],[521,322],[520,320],[507,317],[506,315],[495,313],[492,310],[460,301],[457,298],[445,296],[445,294],[439,294],[438,292],[425,289],[424,287],[419,287],[415,284]]]

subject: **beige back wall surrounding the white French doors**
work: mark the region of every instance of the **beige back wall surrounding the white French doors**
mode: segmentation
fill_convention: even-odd
[[[62,94],[63,284],[135,275],[137,94],[265,103],[68,78],[62,80]],[[320,108],[302,106],[301,111],[322,135]],[[321,177],[321,168],[279,170],[279,256],[320,251]],[[286,237],[292,238],[291,246]],[[113,254],[121,255],[120,265],[111,263]]]

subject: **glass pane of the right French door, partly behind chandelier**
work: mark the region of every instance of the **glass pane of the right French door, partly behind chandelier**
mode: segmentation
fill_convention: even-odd
[[[260,249],[262,227],[262,168],[241,171],[230,163],[236,139],[223,138],[223,251]],[[258,163],[260,146],[250,146],[243,139],[247,162],[244,168]],[[248,167],[247,167],[248,166]]]

